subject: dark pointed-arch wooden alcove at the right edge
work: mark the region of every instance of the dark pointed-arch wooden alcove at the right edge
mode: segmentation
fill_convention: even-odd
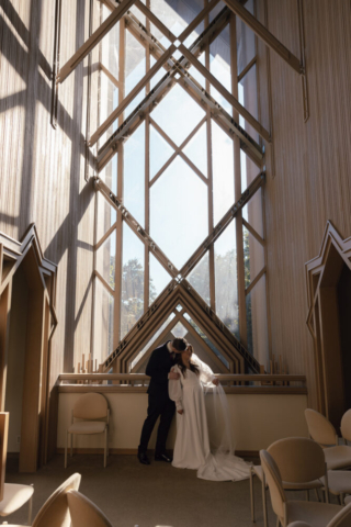
[[[351,237],[342,239],[331,222],[306,279],[318,410],[339,427],[351,405]]]

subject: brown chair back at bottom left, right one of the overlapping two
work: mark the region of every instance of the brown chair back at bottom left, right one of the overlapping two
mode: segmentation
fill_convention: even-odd
[[[77,491],[67,494],[72,527],[113,527],[103,512]]]

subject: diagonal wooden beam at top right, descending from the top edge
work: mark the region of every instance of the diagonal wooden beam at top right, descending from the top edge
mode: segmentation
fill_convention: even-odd
[[[298,58],[291,53],[256,16],[245,9],[238,0],[224,0],[231,11],[239,16],[271,49],[278,53],[298,75],[303,74],[303,67]]]

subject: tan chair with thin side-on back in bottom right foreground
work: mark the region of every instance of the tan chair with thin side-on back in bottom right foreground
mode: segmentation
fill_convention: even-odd
[[[342,509],[340,505],[329,503],[287,501],[282,476],[274,459],[267,450],[260,451],[260,458],[270,489],[272,507],[278,516],[278,525],[287,527],[288,524],[299,520],[310,524],[310,527],[327,527],[328,522]]]

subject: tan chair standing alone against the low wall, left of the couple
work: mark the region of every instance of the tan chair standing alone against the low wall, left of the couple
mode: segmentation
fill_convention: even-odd
[[[97,421],[103,419],[106,421]],[[75,423],[75,419],[83,419]],[[70,440],[70,455],[73,453],[73,436],[86,434],[104,434],[104,456],[103,466],[106,467],[106,457],[109,456],[109,423],[110,423],[110,410],[107,401],[100,393],[86,393],[76,402],[72,410],[72,424],[66,433],[65,445],[65,469],[67,469],[67,447],[68,436],[71,436]]]

